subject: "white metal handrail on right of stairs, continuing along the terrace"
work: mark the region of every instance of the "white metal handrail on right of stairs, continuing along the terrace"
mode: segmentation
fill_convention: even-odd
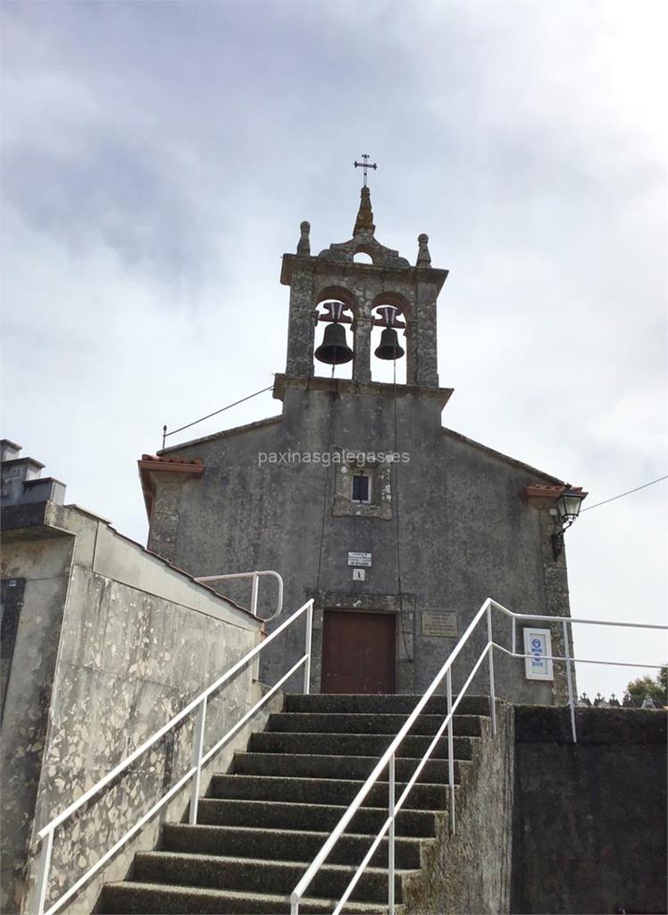
[[[501,645],[496,643],[493,640],[492,632],[492,618],[491,611],[496,609],[501,611],[501,613],[512,619],[512,651],[503,648]],[[460,688],[458,696],[453,702],[452,698],[452,665],[458,657],[459,652],[469,640],[470,635],[473,630],[476,629],[480,620],[485,617],[487,618],[487,643],[485,647],[480,652],[478,660],[474,663],[471,672],[465,682],[465,684]],[[341,816],[339,823],[334,827],[329,838],[326,840],[325,844],[322,846],[318,855],[313,859],[311,864],[307,867],[304,875],[301,877],[299,882],[296,885],[296,888],[293,890],[290,896],[290,911],[291,915],[298,915],[299,904],[304,898],[304,894],[307,891],[307,888],[313,881],[313,878],[318,873],[318,870],[329,857],[329,853],[336,843],[339,841],[340,836],[345,832],[346,827],[350,823],[350,820],[353,818],[355,813],[361,807],[361,803],[367,797],[369,792],[372,790],[373,785],[381,776],[382,772],[388,770],[388,782],[389,782],[389,798],[388,798],[388,815],[380,831],[376,834],[373,839],[372,845],[363,857],[361,864],[357,867],[355,873],[350,879],[350,882],[346,889],[343,892],[343,895],[339,899],[339,903],[333,911],[333,915],[339,915],[343,906],[350,898],[350,893],[357,885],[358,881],[367,865],[372,859],[376,849],[381,844],[382,839],[385,834],[388,834],[388,886],[387,886],[387,899],[388,899],[388,913],[393,915],[394,913],[394,823],[396,820],[396,815],[402,809],[404,801],[408,797],[408,794],[415,785],[415,781],[419,778],[420,773],[424,769],[427,760],[431,757],[432,753],[436,749],[438,741],[443,737],[444,732],[447,729],[447,781],[448,781],[448,793],[449,793],[449,803],[448,803],[448,816],[449,824],[452,832],[455,831],[455,761],[454,761],[454,734],[453,734],[453,716],[458,708],[459,703],[461,702],[464,694],[469,689],[470,684],[473,681],[476,673],[478,673],[481,664],[485,661],[485,658],[488,659],[489,665],[489,674],[490,674],[490,717],[491,717],[491,733],[492,737],[496,736],[497,723],[496,723],[496,694],[494,686],[494,662],[493,662],[493,649],[498,648],[503,651],[505,654],[510,655],[513,658],[527,658],[531,655],[518,653],[515,651],[516,648],[516,635],[517,635],[517,620],[531,620],[535,622],[536,620],[551,622],[551,623],[561,623],[563,626],[564,634],[564,644],[565,644],[565,655],[552,656],[551,658],[544,658],[544,660],[553,660],[553,661],[563,661],[566,662],[566,673],[567,673],[567,687],[568,687],[568,705],[570,706],[571,714],[571,727],[573,740],[576,742],[576,716],[575,716],[575,696],[573,693],[573,678],[571,666],[574,663],[588,663],[587,659],[578,659],[571,657],[569,643],[568,643],[568,630],[567,627],[571,623],[585,623],[591,624],[594,626],[620,626],[630,629],[651,629],[651,630],[667,630],[668,626],[657,625],[654,623],[628,623],[628,622],[617,622],[613,620],[604,620],[604,619],[577,619],[571,617],[551,617],[551,616],[537,616],[529,613],[513,613],[512,610],[503,607],[497,601],[492,600],[490,597],[485,600],[482,606],[479,608],[475,617],[471,620],[469,627],[464,632],[461,639],[458,641],[455,649],[451,652],[450,656],[447,658],[445,664],[441,667],[440,671],[436,673],[436,677],[432,683],[427,687],[426,693],[420,699],[420,701],[415,705],[413,712],[408,716],[404,725],[400,728],[396,737],[393,738],[390,746],[382,754],[381,759],[376,763],[371,774],[367,780],[362,785],[360,791],[357,792],[353,800],[350,802],[348,810]],[[614,664],[617,662],[592,662],[592,663],[609,663]],[[620,662],[624,666],[642,666],[642,667],[654,667],[659,665],[653,664],[635,664],[631,662]],[[409,733],[412,727],[415,725],[417,717],[420,715],[424,709],[426,703],[435,693],[436,688],[443,682],[443,679],[446,679],[446,701],[447,701],[447,715],[444,718],[443,724],[436,731],[435,737],[432,739],[429,747],[426,749],[425,754],[422,759],[420,759],[417,764],[413,775],[410,780],[406,783],[404,791],[401,794],[399,800],[396,800],[396,779],[395,779],[395,756],[396,750],[403,741],[404,737]]]

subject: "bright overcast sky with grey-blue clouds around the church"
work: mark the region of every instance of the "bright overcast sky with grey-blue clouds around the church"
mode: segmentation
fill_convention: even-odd
[[[444,425],[589,504],[668,473],[661,5],[5,0],[2,33],[2,436],[67,501],[145,543],[136,459],[284,370],[281,254],[350,238],[366,152],[376,237],[450,270]],[[667,493],[566,534],[574,616],[666,621]],[[622,631],[576,650],[668,657]]]

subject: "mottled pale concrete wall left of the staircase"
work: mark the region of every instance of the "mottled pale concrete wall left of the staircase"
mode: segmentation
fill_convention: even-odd
[[[3,912],[29,910],[35,877],[29,849],[35,850],[38,830],[260,638],[257,620],[242,608],[101,519],[46,503],[41,519],[33,514],[27,524],[21,511],[5,515],[3,555],[3,577],[26,579],[2,723]],[[245,669],[215,694],[205,748],[253,705],[260,689]],[[81,876],[147,812],[157,792],[189,768],[192,727],[188,719],[63,823],[48,899]],[[225,770],[247,736],[242,731],[209,772]],[[203,787],[206,780],[207,773]],[[186,802],[177,796],[103,878],[124,877],[135,850],[155,845],[160,822],[179,819]],[[68,910],[92,910],[101,883],[102,877],[93,878]]]

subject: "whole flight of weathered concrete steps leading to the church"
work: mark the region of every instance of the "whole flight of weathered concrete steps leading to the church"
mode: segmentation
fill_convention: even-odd
[[[135,856],[131,874],[107,884],[97,911],[108,913],[289,912],[289,894],[339,822],[383,750],[413,710],[411,695],[288,695],[216,775],[199,802],[199,823],[167,823],[159,849]],[[471,765],[489,700],[465,697],[455,717],[455,778]],[[446,714],[434,697],[396,760],[397,792],[415,771]],[[447,742],[439,742],[397,819],[396,902],[403,877],[421,867],[446,815]],[[302,900],[300,911],[331,912],[387,816],[388,782],[380,781],[339,839]],[[386,910],[387,841],[361,877],[346,911]]]

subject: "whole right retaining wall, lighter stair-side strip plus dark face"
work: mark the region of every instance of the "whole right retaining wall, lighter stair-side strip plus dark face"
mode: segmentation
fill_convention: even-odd
[[[404,878],[404,915],[665,912],[660,712],[497,704],[447,816]],[[444,786],[444,791],[446,791]]]

